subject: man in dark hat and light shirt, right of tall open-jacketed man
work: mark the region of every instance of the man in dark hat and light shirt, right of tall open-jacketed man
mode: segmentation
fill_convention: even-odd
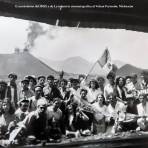
[[[19,92],[19,98],[18,98],[18,101],[23,99],[23,98],[30,98],[32,96],[34,96],[34,92],[31,91],[29,88],[29,80],[27,78],[23,79],[21,81],[21,90]]]

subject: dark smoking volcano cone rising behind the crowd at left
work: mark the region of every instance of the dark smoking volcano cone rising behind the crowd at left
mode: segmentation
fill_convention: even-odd
[[[57,71],[29,52],[0,54],[0,77],[6,78],[10,72],[15,72],[19,78],[26,75],[58,75]]]

